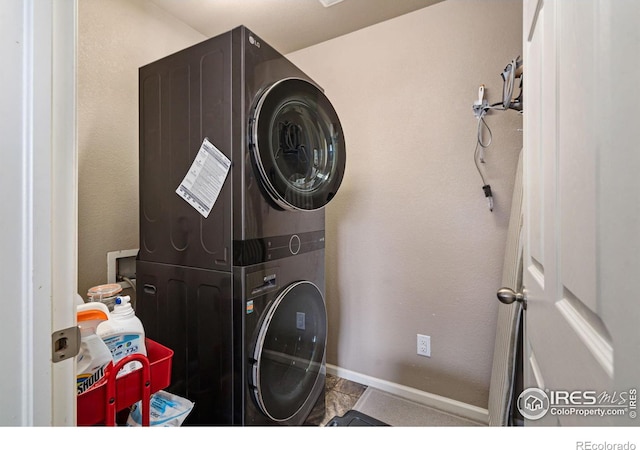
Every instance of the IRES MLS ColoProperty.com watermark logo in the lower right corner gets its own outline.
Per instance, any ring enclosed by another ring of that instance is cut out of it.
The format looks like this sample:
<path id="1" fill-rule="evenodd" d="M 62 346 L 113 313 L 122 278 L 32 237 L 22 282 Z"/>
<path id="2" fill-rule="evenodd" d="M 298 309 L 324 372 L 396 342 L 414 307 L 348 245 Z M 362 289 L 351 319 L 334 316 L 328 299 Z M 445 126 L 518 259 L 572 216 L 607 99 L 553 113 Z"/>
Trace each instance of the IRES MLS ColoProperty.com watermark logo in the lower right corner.
<path id="1" fill-rule="evenodd" d="M 637 417 L 637 390 L 596 392 L 592 390 L 525 389 L 518 397 L 522 416 L 538 420 L 547 414 L 554 416 L 628 416 Z"/>

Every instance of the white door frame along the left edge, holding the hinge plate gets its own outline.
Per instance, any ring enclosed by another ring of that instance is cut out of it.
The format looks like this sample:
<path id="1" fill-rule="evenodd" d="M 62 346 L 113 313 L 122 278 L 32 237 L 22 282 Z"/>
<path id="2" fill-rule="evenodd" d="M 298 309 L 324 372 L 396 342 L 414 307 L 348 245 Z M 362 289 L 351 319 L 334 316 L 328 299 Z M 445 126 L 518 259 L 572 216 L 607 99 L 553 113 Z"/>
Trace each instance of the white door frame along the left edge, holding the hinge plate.
<path id="1" fill-rule="evenodd" d="M 75 425 L 74 358 L 52 358 L 76 323 L 75 16 L 0 2 L 2 426 Z"/>

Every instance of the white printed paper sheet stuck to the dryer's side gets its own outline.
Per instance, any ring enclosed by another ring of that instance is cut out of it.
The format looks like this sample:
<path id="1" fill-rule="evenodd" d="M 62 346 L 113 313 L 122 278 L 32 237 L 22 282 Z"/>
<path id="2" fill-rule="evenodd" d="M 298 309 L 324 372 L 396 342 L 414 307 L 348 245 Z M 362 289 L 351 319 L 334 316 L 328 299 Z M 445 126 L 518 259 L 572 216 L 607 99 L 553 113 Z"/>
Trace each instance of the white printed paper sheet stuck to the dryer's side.
<path id="1" fill-rule="evenodd" d="M 229 158 L 204 138 L 196 159 L 176 189 L 176 194 L 207 218 L 222 190 L 230 167 Z"/>

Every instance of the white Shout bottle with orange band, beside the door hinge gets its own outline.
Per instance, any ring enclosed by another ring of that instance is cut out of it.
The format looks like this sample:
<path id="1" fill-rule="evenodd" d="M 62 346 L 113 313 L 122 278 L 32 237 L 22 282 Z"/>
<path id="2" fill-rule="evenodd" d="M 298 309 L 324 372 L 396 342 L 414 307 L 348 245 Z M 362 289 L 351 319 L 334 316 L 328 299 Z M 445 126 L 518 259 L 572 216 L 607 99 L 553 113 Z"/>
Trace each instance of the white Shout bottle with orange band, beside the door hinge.
<path id="1" fill-rule="evenodd" d="M 102 303 L 77 306 L 80 328 L 80 352 L 76 356 L 76 387 L 80 395 L 104 379 L 113 366 L 113 357 L 104 341 L 96 334 L 100 323 L 109 319 L 109 310 Z"/>

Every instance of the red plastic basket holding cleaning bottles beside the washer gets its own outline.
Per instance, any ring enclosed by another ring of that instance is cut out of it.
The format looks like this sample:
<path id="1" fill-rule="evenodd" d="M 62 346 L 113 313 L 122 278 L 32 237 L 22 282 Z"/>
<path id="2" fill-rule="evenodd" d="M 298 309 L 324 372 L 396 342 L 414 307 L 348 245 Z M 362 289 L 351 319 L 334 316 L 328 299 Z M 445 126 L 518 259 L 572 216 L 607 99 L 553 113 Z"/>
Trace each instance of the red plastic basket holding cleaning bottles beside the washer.
<path id="1" fill-rule="evenodd" d="M 146 400 L 143 402 L 142 412 L 143 417 L 146 416 L 148 419 L 147 395 L 169 386 L 173 350 L 148 338 L 145 339 L 145 346 L 146 358 L 144 355 L 131 355 L 127 357 L 130 358 L 127 361 L 127 358 L 119 361 L 111 373 L 112 380 L 107 380 L 106 383 L 101 383 L 77 397 L 78 426 L 113 425 L 115 412 L 126 409 L 140 400 Z M 116 379 L 115 374 L 130 360 L 141 361 L 143 367 Z"/>

